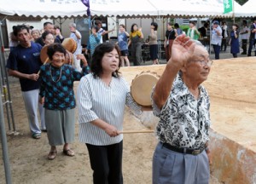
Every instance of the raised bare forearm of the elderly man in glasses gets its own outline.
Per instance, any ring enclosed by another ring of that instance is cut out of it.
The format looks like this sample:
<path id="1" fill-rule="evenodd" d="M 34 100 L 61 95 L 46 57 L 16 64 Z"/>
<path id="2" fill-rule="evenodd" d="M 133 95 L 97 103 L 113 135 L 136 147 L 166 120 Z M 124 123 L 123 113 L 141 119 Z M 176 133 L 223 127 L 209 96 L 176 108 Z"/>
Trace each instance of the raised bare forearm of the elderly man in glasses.
<path id="1" fill-rule="evenodd" d="M 172 89 L 172 83 L 180 70 L 180 66 L 172 63 L 172 59 L 168 61 L 166 69 L 155 85 L 153 100 L 154 103 L 161 109 L 167 101 Z"/>

